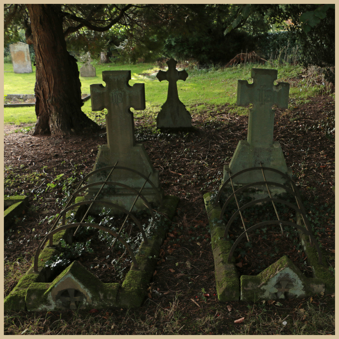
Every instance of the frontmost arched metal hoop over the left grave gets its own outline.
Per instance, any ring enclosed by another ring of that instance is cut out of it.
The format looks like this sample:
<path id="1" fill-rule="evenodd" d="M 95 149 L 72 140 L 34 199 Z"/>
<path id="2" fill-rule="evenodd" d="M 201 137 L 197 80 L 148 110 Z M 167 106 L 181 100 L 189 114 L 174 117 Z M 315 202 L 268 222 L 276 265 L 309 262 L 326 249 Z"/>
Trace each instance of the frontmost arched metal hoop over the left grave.
<path id="1" fill-rule="evenodd" d="M 44 243 L 47 238 L 53 238 L 53 235 L 55 233 L 58 233 L 58 232 L 60 232 L 62 230 L 66 230 L 67 228 L 79 227 L 79 226 L 99 228 L 99 230 L 105 231 L 105 232 L 113 235 L 114 237 L 116 237 L 126 247 L 129 255 L 132 258 L 132 261 L 133 261 L 133 264 L 134 264 L 134 268 L 139 268 L 138 263 L 137 263 L 137 259 L 135 258 L 135 255 L 134 255 L 134 253 L 132 251 L 131 246 L 129 246 L 127 244 L 127 242 L 122 237 L 120 237 L 120 235 L 118 235 L 117 233 L 113 232 L 112 230 L 110 230 L 107 227 L 100 226 L 100 225 L 97 225 L 97 224 L 79 223 L 78 222 L 78 223 L 74 223 L 74 224 L 67 224 L 67 225 L 60 226 L 60 227 L 56 228 L 54 231 L 49 232 L 44 237 L 44 239 L 41 240 L 40 243 Z M 37 252 L 35 253 L 35 256 L 34 256 L 34 271 L 35 272 L 38 272 L 38 260 L 39 260 L 40 251 L 41 251 L 41 246 L 39 245 L 38 249 L 37 249 Z"/>

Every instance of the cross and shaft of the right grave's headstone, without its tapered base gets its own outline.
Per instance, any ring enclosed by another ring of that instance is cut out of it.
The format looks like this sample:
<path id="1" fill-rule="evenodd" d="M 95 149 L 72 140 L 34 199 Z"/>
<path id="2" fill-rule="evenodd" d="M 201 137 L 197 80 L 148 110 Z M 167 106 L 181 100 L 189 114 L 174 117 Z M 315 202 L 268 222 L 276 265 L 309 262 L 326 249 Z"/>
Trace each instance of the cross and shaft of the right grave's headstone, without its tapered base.
<path id="1" fill-rule="evenodd" d="M 273 144 L 274 111 L 273 105 L 278 108 L 288 107 L 288 92 L 290 84 L 277 80 L 276 69 L 252 68 L 253 83 L 238 80 L 237 105 L 253 104 L 248 116 L 247 142 L 251 148 L 270 147 Z"/>

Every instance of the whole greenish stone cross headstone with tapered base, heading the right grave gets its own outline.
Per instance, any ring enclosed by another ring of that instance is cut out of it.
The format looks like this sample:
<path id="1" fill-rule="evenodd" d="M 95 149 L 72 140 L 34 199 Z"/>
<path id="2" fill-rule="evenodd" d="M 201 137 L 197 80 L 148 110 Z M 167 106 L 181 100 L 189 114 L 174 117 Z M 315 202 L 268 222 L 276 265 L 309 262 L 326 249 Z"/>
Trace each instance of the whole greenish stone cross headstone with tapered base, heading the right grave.
<path id="1" fill-rule="evenodd" d="M 243 169 L 260 166 L 278 169 L 289 173 L 280 143 L 273 141 L 274 111 L 273 105 L 278 108 L 287 108 L 290 84 L 279 82 L 276 69 L 252 68 L 253 83 L 238 80 L 237 105 L 247 106 L 253 104 L 248 116 L 247 140 L 240 140 L 229 165 L 224 166 L 224 181 L 231 175 Z M 283 183 L 281 175 L 266 171 L 267 181 Z M 241 174 L 234 179 L 237 185 L 245 185 L 262 181 L 261 171 L 251 171 Z"/>

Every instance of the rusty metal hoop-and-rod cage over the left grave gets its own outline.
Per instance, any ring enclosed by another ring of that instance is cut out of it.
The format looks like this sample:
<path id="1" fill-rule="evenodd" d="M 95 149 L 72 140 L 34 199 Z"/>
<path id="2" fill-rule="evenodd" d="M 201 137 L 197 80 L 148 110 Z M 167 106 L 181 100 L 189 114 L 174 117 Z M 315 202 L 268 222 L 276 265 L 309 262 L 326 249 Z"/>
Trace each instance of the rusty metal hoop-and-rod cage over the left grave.
<path id="1" fill-rule="evenodd" d="M 122 167 L 122 166 L 117 166 L 118 164 L 118 161 L 115 163 L 114 166 L 106 166 L 106 167 L 102 167 L 102 168 L 99 168 L 95 171 L 92 171 L 90 172 L 89 174 L 87 174 L 82 180 L 81 182 L 79 183 L 78 187 L 76 188 L 75 192 L 71 195 L 71 197 L 69 198 L 69 200 L 67 201 L 64 209 L 60 212 L 59 215 L 56 216 L 56 220 L 55 222 L 53 223 L 53 226 L 51 228 L 51 231 L 49 231 L 49 233 L 41 240 L 38 248 L 37 248 L 37 251 L 36 251 L 36 254 L 35 254 L 35 257 L 34 257 L 34 271 L 35 272 L 38 272 L 38 258 L 39 258 L 39 254 L 42 250 L 42 247 L 44 246 L 45 242 L 47 240 L 49 240 L 49 246 L 52 247 L 53 246 L 53 235 L 62 231 L 62 230 L 65 230 L 65 229 L 68 229 L 68 228 L 73 228 L 73 227 L 77 227 L 76 228 L 76 231 L 74 232 L 73 235 L 76 235 L 77 231 L 79 230 L 79 228 L 81 226 L 86 226 L 86 227 L 94 227 L 94 228 L 98 228 L 100 230 L 103 230 L 105 232 L 108 232 L 109 234 L 111 234 L 112 236 L 115 237 L 115 240 L 114 240 L 114 243 L 115 241 L 118 239 L 125 247 L 126 247 L 126 250 L 128 251 L 128 253 L 131 255 L 131 258 L 132 258 L 132 261 L 133 261 L 133 264 L 134 264 L 134 268 L 138 268 L 138 264 L 137 264 L 137 261 L 135 259 L 135 255 L 131 249 L 131 247 L 128 245 L 128 243 L 120 236 L 120 233 L 122 231 L 122 228 L 123 226 L 125 225 L 126 221 L 128 218 L 131 218 L 135 223 L 136 225 L 138 226 L 139 228 L 139 231 L 141 232 L 142 234 L 142 237 L 143 237 L 143 241 L 145 244 L 148 244 L 148 239 L 146 237 L 146 234 L 145 234 L 145 231 L 141 225 L 141 223 L 139 222 L 139 220 L 135 217 L 134 214 L 132 214 L 132 210 L 133 210 L 133 207 L 137 201 L 138 198 L 142 199 L 145 206 L 148 208 L 148 211 L 149 213 L 151 214 L 153 220 L 155 220 L 155 214 L 153 212 L 153 209 L 151 207 L 151 205 L 149 204 L 149 202 L 147 201 L 147 199 L 141 194 L 143 188 L 145 187 L 146 183 L 148 182 L 155 190 L 156 194 L 158 195 L 158 198 L 159 198 L 159 202 L 162 201 L 162 197 L 160 195 L 160 193 L 158 192 L 157 188 L 155 187 L 155 185 L 153 184 L 152 181 L 149 180 L 149 177 L 151 176 L 151 173 L 148 175 L 148 177 L 144 176 L 142 173 L 138 172 L 138 171 L 135 171 L 134 169 L 132 168 L 127 168 L 127 167 Z M 140 175 L 140 177 L 144 178 L 145 179 L 145 182 L 144 184 L 142 185 L 142 187 L 140 188 L 139 191 L 135 190 L 133 187 L 130 187 L 130 186 L 127 186 L 127 185 L 124 185 L 122 183 L 119 183 L 119 182 L 115 182 L 115 181 L 108 181 L 109 177 L 111 176 L 112 172 L 114 171 L 114 169 L 122 169 L 122 170 L 127 170 L 127 171 L 131 171 L 133 173 L 136 173 L 138 175 Z M 87 185 L 83 185 L 83 183 L 85 182 L 86 179 L 88 179 L 90 176 L 94 175 L 94 174 L 97 174 L 101 171 L 107 171 L 109 170 L 109 174 L 108 176 L 106 177 L 106 180 L 105 181 L 100 181 L 100 182 L 94 182 L 94 183 L 91 183 L 91 184 L 87 184 Z M 97 192 L 96 196 L 94 197 L 93 200 L 87 200 L 87 201 L 81 201 L 81 202 L 78 202 L 78 203 L 74 203 L 75 201 L 75 198 L 83 191 L 86 191 L 89 187 L 92 187 L 92 186 L 98 186 L 98 185 L 101 185 L 99 191 Z M 108 185 L 113 185 L 113 186 L 120 186 L 120 187 L 124 187 L 124 188 L 127 188 L 129 191 L 133 192 L 136 194 L 136 198 L 130 208 L 129 211 L 127 211 L 125 208 L 117 205 L 117 204 L 114 204 L 112 202 L 106 202 L 106 201 L 100 201 L 100 200 L 97 200 L 99 194 L 102 192 L 104 186 L 108 186 Z M 100 226 L 100 225 L 97 225 L 97 224 L 93 224 L 93 223 L 86 223 L 85 222 L 85 218 L 89 215 L 89 212 L 91 210 L 91 207 L 94 205 L 94 204 L 100 204 L 101 206 L 107 206 L 107 207 L 111 207 L 111 208 L 116 208 L 118 210 L 120 210 L 122 213 L 126 214 L 126 217 L 125 217 L 125 220 L 119 230 L 118 233 L 116 232 L 113 232 L 112 230 L 110 230 L 109 228 L 107 227 L 104 227 L 104 226 Z M 72 224 L 65 224 L 66 223 L 66 214 L 67 212 L 71 211 L 71 210 L 74 210 L 75 208 L 81 206 L 81 205 L 89 205 L 89 207 L 87 208 L 87 211 L 85 212 L 84 216 L 82 217 L 82 220 L 81 222 L 79 223 L 72 223 Z M 61 220 L 61 225 L 59 225 L 57 227 L 57 225 L 60 223 L 60 219 Z"/>

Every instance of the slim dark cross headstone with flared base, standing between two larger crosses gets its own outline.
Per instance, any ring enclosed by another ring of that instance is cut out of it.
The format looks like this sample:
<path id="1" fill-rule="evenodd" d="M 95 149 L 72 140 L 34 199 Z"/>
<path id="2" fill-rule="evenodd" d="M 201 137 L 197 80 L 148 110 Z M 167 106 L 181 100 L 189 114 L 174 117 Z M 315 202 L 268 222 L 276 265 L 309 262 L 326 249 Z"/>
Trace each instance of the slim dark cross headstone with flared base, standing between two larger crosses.
<path id="1" fill-rule="evenodd" d="M 186 106 L 179 100 L 177 81 L 185 81 L 188 74 L 185 70 L 176 69 L 177 61 L 169 59 L 167 62 L 168 70 L 159 71 L 157 78 L 159 81 L 168 81 L 168 92 L 165 103 L 157 116 L 157 128 L 160 129 L 181 129 L 192 127 L 192 117 L 187 111 Z"/>

